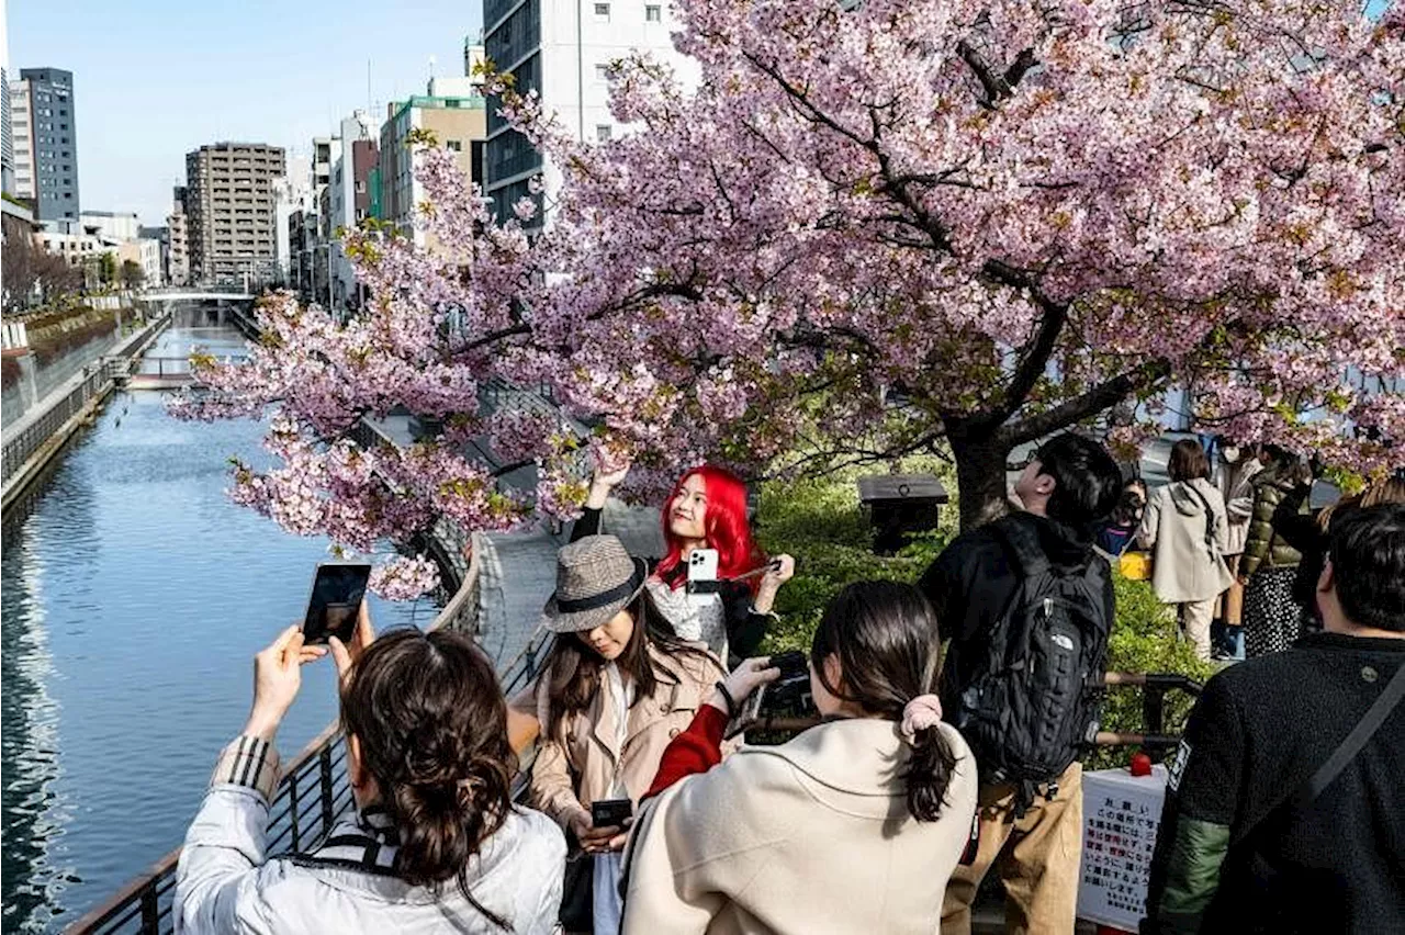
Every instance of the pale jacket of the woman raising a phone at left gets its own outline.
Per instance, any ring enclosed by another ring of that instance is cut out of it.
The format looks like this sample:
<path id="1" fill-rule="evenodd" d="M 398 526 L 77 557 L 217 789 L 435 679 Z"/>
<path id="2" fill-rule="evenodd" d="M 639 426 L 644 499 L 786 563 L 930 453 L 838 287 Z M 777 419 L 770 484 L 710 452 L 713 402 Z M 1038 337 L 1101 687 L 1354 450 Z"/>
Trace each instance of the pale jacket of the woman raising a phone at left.
<path id="1" fill-rule="evenodd" d="M 274 859 L 267 856 L 267 825 L 263 792 L 229 782 L 211 786 L 176 873 L 177 935 L 504 931 L 452 880 L 436 897 L 391 875 L 395 833 L 384 816 L 351 814 L 320 849 Z M 514 809 L 469 862 L 469 891 L 507 920 L 507 931 L 545 935 L 556 928 L 565 859 L 556 824 Z"/>

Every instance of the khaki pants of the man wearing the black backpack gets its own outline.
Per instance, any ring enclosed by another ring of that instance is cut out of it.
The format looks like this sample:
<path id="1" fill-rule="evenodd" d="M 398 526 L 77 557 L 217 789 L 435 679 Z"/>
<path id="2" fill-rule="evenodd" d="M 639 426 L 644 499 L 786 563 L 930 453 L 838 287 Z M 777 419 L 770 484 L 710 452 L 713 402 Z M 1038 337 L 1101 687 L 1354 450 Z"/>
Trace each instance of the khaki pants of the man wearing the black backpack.
<path id="1" fill-rule="evenodd" d="M 1037 796 L 1023 818 L 1013 806 L 1013 786 L 981 786 L 981 844 L 975 863 L 958 865 L 947 882 L 941 935 L 971 935 L 971 903 L 992 865 L 1005 884 L 1006 932 L 1072 935 L 1083 852 L 1082 765 L 1064 771 L 1052 802 Z"/>

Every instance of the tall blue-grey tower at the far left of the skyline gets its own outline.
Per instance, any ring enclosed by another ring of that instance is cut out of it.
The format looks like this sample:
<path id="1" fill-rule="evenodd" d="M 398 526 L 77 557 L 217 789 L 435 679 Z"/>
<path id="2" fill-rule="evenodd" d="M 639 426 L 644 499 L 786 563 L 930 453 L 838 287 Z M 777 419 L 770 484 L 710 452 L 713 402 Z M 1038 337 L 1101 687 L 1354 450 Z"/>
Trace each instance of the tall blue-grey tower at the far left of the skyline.
<path id="1" fill-rule="evenodd" d="M 15 194 L 34 216 L 73 229 L 79 223 L 79 133 L 73 73 L 21 69 L 10 83 Z"/>

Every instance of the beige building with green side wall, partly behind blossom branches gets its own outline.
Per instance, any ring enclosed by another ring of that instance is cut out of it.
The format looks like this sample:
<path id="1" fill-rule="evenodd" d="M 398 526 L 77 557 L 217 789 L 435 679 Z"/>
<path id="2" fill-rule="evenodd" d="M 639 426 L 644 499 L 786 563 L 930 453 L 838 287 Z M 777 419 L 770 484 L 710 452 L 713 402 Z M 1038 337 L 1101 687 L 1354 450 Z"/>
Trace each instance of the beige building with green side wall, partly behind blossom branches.
<path id="1" fill-rule="evenodd" d="M 416 211 L 426 201 L 424 187 L 414 178 L 414 131 L 430 131 L 440 146 L 455 153 L 459 168 L 473 184 L 483 184 L 483 138 L 488 107 L 478 86 L 466 79 L 431 79 L 427 94 L 391 104 L 381 126 L 379 219 L 393 223 L 417 244 L 424 232 L 416 225 Z"/>

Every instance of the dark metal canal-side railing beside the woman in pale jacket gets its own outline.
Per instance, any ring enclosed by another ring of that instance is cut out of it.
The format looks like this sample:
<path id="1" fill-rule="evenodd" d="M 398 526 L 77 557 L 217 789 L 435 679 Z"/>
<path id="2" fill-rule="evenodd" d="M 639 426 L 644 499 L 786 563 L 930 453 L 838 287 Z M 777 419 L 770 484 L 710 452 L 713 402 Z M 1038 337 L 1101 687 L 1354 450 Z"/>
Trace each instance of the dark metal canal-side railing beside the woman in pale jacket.
<path id="1" fill-rule="evenodd" d="M 429 629 L 473 633 L 479 618 L 479 563 L 476 549 L 468 574 Z M 538 653 L 524 651 L 500 670 L 504 685 L 523 685 L 531 677 L 525 668 Z M 509 689 L 513 691 L 513 689 Z M 270 804 L 268 849 L 287 854 L 306 849 L 325 835 L 351 807 L 346 768 L 346 738 L 333 722 L 301 754 L 284 767 L 278 790 Z M 166 935 L 173 932 L 176 896 L 176 848 L 105 903 L 69 925 L 67 935 Z"/>

